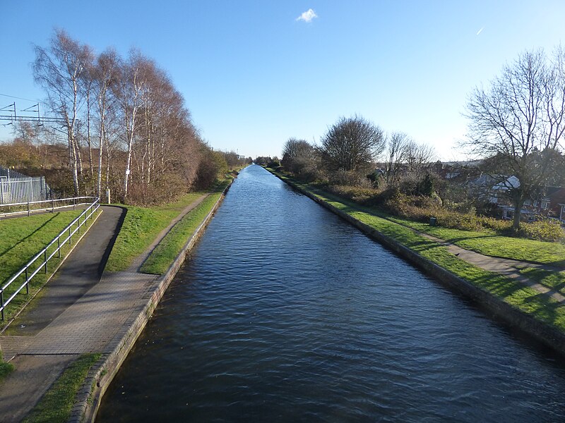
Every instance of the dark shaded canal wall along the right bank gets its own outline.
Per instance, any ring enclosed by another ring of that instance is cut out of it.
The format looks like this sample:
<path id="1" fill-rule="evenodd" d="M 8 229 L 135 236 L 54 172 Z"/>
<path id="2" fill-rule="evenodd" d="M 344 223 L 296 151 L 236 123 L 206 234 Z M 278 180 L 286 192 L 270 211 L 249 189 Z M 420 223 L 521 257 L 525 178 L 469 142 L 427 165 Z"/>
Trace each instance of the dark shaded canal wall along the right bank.
<path id="1" fill-rule="evenodd" d="M 273 173 L 273 175 L 278 177 L 276 173 Z M 535 319 L 534 317 L 530 316 L 530 314 L 523 312 L 521 309 L 513 307 L 508 302 L 504 302 L 504 300 L 501 300 L 501 298 L 498 298 L 491 293 L 473 285 L 469 281 L 466 281 L 465 279 L 452 274 L 450 271 L 444 269 L 443 267 L 430 262 L 428 259 L 422 257 L 417 252 L 412 251 L 410 250 L 410 248 L 398 243 L 398 241 L 393 240 L 392 238 L 388 238 L 386 235 L 383 235 L 383 233 L 376 231 L 376 229 L 371 228 L 371 226 L 367 225 L 366 223 L 358 221 L 349 214 L 336 207 L 333 207 L 331 204 L 328 204 L 327 202 L 321 200 L 319 197 L 316 197 L 316 195 L 312 194 L 311 192 L 304 190 L 295 183 L 292 183 L 291 180 L 283 178 L 280 178 L 280 180 L 283 180 L 283 182 L 292 186 L 292 188 L 295 188 L 295 190 L 302 192 L 302 194 L 306 195 L 311 200 L 314 200 L 322 207 L 330 210 L 334 214 L 337 214 L 338 216 L 340 216 L 340 218 L 352 224 L 360 231 L 368 235 L 370 238 L 381 243 L 381 245 L 384 245 L 389 250 L 396 252 L 396 254 L 400 257 L 403 257 L 403 259 L 406 259 L 408 262 L 414 264 L 419 269 L 422 269 L 430 276 L 433 276 L 436 281 L 439 281 L 442 285 L 465 295 L 465 297 L 477 302 L 477 304 L 484 307 L 484 309 L 492 313 L 498 319 L 501 319 L 507 324 L 520 329 L 524 333 L 527 333 L 529 336 L 537 339 L 537 341 L 540 341 L 541 343 L 544 343 L 550 348 L 556 350 L 557 353 L 565 355 L 565 333 L 554 329 L 552 326 L 549 326 L 549 324 L 546 324 L 543 321 Z"/>

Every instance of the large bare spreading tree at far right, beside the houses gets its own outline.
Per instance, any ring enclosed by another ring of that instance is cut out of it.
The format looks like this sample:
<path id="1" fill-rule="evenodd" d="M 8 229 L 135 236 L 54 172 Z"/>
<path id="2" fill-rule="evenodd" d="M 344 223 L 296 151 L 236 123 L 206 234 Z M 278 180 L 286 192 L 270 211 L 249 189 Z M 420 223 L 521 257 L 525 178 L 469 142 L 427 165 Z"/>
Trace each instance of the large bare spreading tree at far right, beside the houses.
<path id="1" fill-rule="evenodd" d="M 475 88 L 467 104 L 472 152 L 496 157 L 494 174 L 508 185 L 514 206 L 513 228 L 520 226 L 525 200 L 540 190 L 555 166 L 555 152 L 565 130 L 565 54 L 559 48 L 552 60 L 544 51 L 525 51 L 504 66 L 488 90 Z M 504 175 L 504 173 L 509 173 Z"/>

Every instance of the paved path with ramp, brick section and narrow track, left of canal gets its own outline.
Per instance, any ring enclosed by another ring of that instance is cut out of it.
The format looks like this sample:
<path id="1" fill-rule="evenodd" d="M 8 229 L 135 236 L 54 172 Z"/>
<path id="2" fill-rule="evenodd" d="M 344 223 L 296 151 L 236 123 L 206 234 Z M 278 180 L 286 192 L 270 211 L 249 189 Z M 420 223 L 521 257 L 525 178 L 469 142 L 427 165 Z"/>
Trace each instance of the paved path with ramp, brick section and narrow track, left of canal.
<path id="1" fill-rule="evenodd" d="M 0 384 L 0 422 L 18 422 L 40 400 L 66 366 L 82 353 L 109 353 L 145 305 L 157 276 L 138 268 L 174 223 L 196 207 L 203 195 L 163 230 L 127 271 L 104 273 L 121 209 L 104 207 L 88 235 L 48 283 L 37 307 L 0 337 L 4 358 L 16 371 Z"/>

